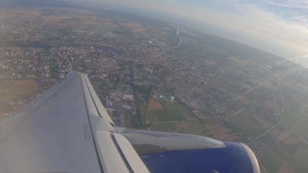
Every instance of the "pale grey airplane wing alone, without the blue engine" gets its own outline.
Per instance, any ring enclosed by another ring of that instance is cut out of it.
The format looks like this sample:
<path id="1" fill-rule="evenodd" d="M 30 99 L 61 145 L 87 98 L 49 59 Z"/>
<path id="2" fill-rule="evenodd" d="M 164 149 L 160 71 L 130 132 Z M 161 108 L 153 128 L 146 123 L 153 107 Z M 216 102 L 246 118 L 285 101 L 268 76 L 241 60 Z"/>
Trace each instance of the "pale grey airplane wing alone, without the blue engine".
<path id="1" fill-rule="evenodd" d="M 0 172 L 148 172 L 84 74 L 0 121 Z"/>

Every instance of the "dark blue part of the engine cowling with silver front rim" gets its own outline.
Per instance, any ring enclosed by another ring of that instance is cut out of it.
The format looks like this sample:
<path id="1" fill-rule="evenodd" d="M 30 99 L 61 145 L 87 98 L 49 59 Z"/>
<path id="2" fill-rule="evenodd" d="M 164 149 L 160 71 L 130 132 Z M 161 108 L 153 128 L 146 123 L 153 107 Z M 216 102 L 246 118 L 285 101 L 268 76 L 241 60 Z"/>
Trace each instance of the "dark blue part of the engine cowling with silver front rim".
<path id="1" fill-rule="evenodd" d="M 242 143 L 225 148 L 173 150 L 140 154 L 150 172 L 260 172 L 253 152 Z"/>

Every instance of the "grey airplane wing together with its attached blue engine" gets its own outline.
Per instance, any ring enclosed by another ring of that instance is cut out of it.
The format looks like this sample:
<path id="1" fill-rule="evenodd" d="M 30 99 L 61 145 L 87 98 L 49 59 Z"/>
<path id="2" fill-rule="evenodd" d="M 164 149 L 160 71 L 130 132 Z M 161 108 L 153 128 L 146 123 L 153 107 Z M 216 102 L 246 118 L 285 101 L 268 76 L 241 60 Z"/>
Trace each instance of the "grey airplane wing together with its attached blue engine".
<path id="1" fill-rule="evenodd" d="M 242 143 L 114 126 L 84 74 L 0 121 L 0 172 L 149 171 L 260 172 Z"/>

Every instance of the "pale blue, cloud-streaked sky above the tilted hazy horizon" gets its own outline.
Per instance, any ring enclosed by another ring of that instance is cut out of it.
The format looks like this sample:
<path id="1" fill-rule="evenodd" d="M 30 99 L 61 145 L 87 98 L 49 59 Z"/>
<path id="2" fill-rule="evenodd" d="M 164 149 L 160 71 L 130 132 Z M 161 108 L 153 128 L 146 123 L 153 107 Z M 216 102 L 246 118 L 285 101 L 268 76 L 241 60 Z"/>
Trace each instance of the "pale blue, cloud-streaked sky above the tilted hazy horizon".
<path id="1" fill-rule="evenodd" d="M 204 30 L 211 28 L 209 31 L 214 34 L 308 65 L 308 1 L 306 0 L 100 0 L 100 2 L 142 9 L 161 16 L 172 15 L 195 23 L 199 28 L 204 27 Z"/>

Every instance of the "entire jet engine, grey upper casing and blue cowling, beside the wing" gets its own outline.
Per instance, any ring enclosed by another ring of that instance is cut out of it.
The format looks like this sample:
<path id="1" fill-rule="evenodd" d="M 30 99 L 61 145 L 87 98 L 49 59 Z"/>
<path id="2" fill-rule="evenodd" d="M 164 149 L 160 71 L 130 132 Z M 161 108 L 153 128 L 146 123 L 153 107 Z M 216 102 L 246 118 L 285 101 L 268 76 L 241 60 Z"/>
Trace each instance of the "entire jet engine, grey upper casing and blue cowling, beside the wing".
<path id="1" fill-rule="evenodd" d="M 133 145 L 150 172 L 260 172 L 251 149 L 239 142 L 114 127 Z"/>

